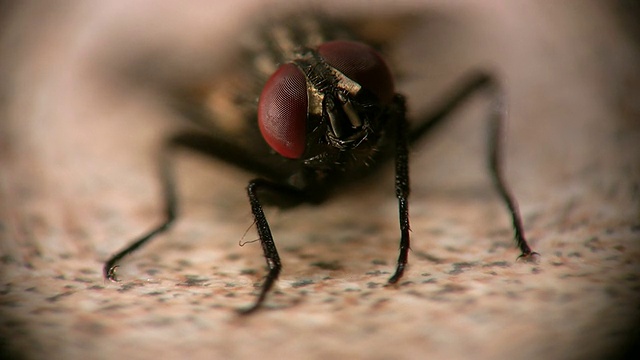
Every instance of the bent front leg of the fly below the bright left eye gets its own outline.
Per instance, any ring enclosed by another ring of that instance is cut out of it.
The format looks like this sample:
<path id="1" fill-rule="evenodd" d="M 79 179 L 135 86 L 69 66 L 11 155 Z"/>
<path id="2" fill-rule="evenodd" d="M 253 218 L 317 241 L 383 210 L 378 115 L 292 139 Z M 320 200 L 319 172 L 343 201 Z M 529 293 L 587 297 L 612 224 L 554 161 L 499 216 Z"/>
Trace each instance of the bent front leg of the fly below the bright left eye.
<path id="1" fill-rule="evenodd" d="M 249 314 L 260 308 L 282 270 L 282 263 L 280 262 L 280 256 L 278 255 L 278 249 L 273 241 L 269 223 L 267 222 L 267 218 L 262 210 L 262 204 L 258 198 L 258 191 L 260 190 L 272 191 L 291 198 L 297 198 L 300 201 L 303 199 L 303 191 L 289 185 L 278 184 L 264 179 L 255 179 L 249 182 L 249 186 L 247 186 L 249 203 L 251 204 L 251 212 L 253 213 L 256 229 L 260 238 L 260 244 L 262 245 L 262 251 L 264 252 L 269 272 L 262 284 L 258 299 L 252 306 L 239 310 L 238 312 L 241 314 Z"/>

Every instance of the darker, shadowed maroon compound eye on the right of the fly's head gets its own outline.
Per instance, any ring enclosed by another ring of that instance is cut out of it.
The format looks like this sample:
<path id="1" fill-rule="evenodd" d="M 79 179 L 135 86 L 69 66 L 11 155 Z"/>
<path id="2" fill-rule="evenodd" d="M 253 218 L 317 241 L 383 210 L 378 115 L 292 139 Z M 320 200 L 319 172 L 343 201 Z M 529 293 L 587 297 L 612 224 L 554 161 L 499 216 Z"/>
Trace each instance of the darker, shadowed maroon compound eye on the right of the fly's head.
<path id="1" fill-rule="evenodd" d="M 369 45 L 337 40 L 318 47 L 324 60 L 351 80 L 362 85 L 383 103 L 394 95 L 393 78 L 382 56 Z"/>

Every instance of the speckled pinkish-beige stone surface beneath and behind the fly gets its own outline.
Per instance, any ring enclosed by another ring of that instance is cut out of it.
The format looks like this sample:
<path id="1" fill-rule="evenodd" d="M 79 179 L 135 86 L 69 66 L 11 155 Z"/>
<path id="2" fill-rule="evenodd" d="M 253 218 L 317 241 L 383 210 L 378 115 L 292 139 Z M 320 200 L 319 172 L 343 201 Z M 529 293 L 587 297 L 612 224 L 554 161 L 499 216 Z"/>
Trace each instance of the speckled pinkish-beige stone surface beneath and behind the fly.
<path id="1" fill-rule="evenodd" d="M 625 354 L 640 319 L 640 52 L 624 3 L 325 4 L 424 13 L 388 52 L 413 118 L 467 71 L 495 69 L 507 177 L 541 257 L 516 261 L 483 167 L 479 96 L 412 150 L 413 243 L 397 286 L 388 166 L 322 206 L 267 209 L 284 270 L 249 317 L 234 309 L 265 273 L 260 246 L 238 245 L 255 238 L 252 175 L 220 161 L 178 154 L 175 228 L 125 261 L 120 283 L 101 266 L 160 220 L 154 156 L 176 116 L 158 89 L 215 78 L 264 4 L 3 5 L 0 357 Z"/>

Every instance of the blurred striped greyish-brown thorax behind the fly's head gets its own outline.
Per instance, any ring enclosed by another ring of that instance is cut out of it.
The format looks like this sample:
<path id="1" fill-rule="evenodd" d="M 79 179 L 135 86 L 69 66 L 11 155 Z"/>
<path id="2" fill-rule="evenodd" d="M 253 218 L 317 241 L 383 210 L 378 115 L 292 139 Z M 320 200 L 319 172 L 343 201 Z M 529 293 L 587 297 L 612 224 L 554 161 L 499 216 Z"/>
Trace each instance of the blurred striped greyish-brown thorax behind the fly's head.
<path id="1" fill-rule="evenodd" d="M 255 126 L 258 97 L 278 67 L 336 37 L 353 38 L 346 27 L 318 17 L 267 21 L 240 34 L 229 65 L 215 79 L 197 85 L 190 96 L 202 104 L 216 128 L 242 134 L 247 126 Z"/>

